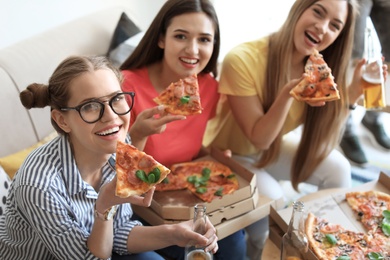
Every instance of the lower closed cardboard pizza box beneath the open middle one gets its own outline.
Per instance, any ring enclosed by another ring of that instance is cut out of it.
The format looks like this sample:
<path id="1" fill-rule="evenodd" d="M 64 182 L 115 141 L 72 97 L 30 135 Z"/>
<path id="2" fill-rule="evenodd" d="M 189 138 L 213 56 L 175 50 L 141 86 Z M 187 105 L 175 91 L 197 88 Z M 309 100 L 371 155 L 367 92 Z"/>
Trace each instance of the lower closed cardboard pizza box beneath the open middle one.
<path id="1" fill-rule="evenodd" d="M 253 196 L 257 196 L 257 199 L 245 199 L 227 207 L 207 213 L 211 223 L 213 223 L 217 230 L 217 236 L 219 239 L 223 239 L 234 232 L 249 226 L 257 220 L 262 219 L 263 217 L 269 215 L 271 206 L 276 207 L 279 203 L 283 203 L 282 199 L 275 201 L 264 195 L 258 195 L 257 192 L 255 192 Z M 249 211 L 243 210 L 243 208 L 249 207 L 252 200 L 257 202 L 255 208 Z M 146 208 L 136 205 L 133 205 L 132 207 L 138 216 L 146 220 L 151 225 L 174 224 L 188 220 L 163 219 L 150 207 Z M 242 213 L 242 211 L 246 212 Z"/>

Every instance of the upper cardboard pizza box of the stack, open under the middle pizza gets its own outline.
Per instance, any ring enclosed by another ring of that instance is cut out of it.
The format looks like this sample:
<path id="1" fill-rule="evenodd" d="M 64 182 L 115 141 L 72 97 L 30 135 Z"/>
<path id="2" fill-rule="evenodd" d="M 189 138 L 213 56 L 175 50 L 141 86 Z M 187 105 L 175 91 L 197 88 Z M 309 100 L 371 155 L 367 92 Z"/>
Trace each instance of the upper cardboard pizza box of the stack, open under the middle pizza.
<path id="1" fill-rule="evenodd" d="M 217 149 L 212 149 L 210 154 L 199 158 L 198 160 L 215 160 L 228 166 L 233 173 L 236 174 L 239 182 L 239 189 L 234 193 L 224 195 L 219 199 L 214 199 L 210 203 L 205 203 L 207 212 L 214 212 L 240 201 L 248 202 L 248 200 L 251 201 L 252 206 L 240 208 L 240 213 L 248 212 L 256 207 L 258 196 L 255 174 L 233 159 L 224 156 L 223 153 Z M 150 208 L 163 219 L 183 220 L 193 218 L 194 206 L 198 203 L 204 202 L 193 195 L 189 190 L 156 191 Z"/>

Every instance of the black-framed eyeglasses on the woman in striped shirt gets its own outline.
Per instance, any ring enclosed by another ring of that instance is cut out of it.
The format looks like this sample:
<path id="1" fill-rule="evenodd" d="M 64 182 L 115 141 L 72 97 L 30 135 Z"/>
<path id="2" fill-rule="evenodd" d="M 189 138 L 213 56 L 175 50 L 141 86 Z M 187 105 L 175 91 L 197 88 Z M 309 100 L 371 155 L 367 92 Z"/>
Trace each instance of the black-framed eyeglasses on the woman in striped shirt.
<path id="1" fill-rule="evenodd" d="M 84 122 L 93 124 L 102 118 L 106 106 L 104 103 L 107 102 L 115 114 L 125 115 L 129 113 L 133 108 L 134 96 L 134 92 L 118 93 L 106 101 L 94 99 L 75 107 L 63 107 L 61 111 L 76 110 Z"/>

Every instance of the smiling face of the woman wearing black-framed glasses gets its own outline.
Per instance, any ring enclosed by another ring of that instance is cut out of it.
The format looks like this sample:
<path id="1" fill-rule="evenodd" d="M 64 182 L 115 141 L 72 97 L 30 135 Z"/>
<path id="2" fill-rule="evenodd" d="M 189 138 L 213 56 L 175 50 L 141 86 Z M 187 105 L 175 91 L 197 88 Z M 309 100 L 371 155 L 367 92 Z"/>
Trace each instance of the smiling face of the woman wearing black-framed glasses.
<path id="1" fill-rule="evenodd" d="M 91 99 L 108 101 L 121 87 L 115 74 L 100 69 L 81 74 L 69 86 L 68 107 L 75 107 Z M 129 127 L 130 113 L 115 114 L 105 102 L 104 114 L 100 120 L 89 124 L 84 122 L 76 110 L 61 112 L 60 127 L 69 134 L 74 153 L 110 155 L 115 152 L 117 140 L 124 141 Z"/>

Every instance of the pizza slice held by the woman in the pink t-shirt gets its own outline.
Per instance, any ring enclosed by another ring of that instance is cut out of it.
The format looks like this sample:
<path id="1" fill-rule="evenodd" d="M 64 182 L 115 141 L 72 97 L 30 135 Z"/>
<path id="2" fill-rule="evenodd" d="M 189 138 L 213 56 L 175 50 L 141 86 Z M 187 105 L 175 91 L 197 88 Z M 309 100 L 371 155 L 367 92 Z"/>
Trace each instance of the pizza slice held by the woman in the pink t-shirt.
<path id="1" fill-rule="evenodd" d="M 165 106 L 165 111 L 174 115 L 197 115 L 202 113 L 197 75 L 171 83 L 163 92 L 153 99 Z"/>

